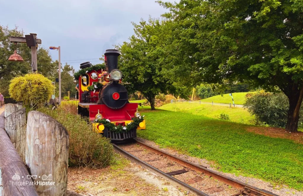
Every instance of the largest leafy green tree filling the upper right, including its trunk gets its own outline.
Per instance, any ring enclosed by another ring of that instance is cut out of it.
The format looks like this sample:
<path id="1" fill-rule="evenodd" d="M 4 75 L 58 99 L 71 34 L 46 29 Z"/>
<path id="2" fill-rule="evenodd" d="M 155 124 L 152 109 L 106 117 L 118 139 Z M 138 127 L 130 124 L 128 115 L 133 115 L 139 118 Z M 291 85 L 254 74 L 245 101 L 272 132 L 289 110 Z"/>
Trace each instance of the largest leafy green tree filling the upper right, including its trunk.
<path id="1" fill-rule="evenodd" d="M 159 2 L 171 30 L 164 70 L 170 80 L 252 80 L 289 100 L 285 129 L 297 131 L 303 99 L 301 0 Z M 183 75 L 177 75 L 186 69 Z"/>

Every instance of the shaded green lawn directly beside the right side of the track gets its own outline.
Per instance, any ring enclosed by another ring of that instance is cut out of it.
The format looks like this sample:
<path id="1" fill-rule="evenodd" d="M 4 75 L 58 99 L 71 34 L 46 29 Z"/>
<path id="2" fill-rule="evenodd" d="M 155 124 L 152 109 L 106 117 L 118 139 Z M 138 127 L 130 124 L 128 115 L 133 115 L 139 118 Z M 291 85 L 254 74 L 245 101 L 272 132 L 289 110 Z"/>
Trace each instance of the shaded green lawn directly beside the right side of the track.
<path id="1" fill-rule="evenodd" d="M 140 107 L 139 107 L 140 108 Z M 213 162 L 223 172 L 303 190 L 303 145 L 247 132 L 249 125 L 183 112 L 142 110 L 138 136 Z"/>

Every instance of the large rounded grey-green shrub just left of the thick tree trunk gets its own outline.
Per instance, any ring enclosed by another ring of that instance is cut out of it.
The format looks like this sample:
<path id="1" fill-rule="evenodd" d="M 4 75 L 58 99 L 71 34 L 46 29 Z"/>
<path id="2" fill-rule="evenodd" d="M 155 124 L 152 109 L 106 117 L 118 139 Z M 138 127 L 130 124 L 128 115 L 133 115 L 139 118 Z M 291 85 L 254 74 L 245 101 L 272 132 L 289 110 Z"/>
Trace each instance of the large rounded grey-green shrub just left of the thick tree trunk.
<path id="1" fill-rule="evenodd" d="M 264 90 L 254 94 L 248 93 L 244 107 L 248 109 L 249 113 L 255 115 L 259 125 L 286 126 L 289 102 L 284 93 L 268 93 Z M 301 115 L 300 125 L 302 125 Z"/>

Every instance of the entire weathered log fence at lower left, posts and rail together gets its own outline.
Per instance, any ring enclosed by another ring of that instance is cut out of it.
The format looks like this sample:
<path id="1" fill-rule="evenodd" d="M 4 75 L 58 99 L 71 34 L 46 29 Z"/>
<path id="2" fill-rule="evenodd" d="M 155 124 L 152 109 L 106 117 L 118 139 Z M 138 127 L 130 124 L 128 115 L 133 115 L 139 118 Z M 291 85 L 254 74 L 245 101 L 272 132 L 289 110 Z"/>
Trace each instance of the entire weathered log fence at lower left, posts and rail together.
<path id="1" fill-rule="evenodd" d="M 0 196 L 76 195 L 67 191 L 68 132 L 50 116 L 6 104 L 0 116 Z M 2 188 L 2 190 L 1 190 Z"/>

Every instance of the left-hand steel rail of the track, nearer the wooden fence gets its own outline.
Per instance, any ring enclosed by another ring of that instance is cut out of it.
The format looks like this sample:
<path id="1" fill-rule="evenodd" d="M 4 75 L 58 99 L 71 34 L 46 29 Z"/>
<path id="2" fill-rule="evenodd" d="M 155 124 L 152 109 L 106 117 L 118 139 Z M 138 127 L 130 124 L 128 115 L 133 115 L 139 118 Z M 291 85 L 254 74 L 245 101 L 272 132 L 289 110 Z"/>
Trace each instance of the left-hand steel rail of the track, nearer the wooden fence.
<path id="1" fill-rule="evenodd" d="M 164 178 L 164 179 L 170 181 L 171 183 L 173 183 L 173 184 L 175 184 L 175 185 L 177 185 L 177 186 L 180 186 L 180 187 L 184 188 L 185 190 L 189 191 L 190 193 L 193 193 L 193 194 L 195 194 L 195 195 L 209 196 L 208 194 L 205 194 L 205 193 L 203 193 L 202 191 L 199 191 L 199 190 L 197 190 L 197 189 L 191 187 L 190 185 L 185 184 L 184 182 L 182 182 L 182 181 L 180 181 L 180 180 L 178 180 L 178 179 L 176 179 L 176 178 L 174 178 L 174 177 L 172 177 L 172 176 L 170 176 L 170 175 L 168 175 L 168 174 L 166 174 L 166 173 L 160 171 L 159 169 L 157 169 L 157 168 L 155 168 L 155 167 L 149 165 L 148 163 L 146 163 L 146 162 L 144 162 L 144 161 L 138 159 L 138 158 L 135 157 L 134 155 L 132 155 L 132 154 L 126 152 L 125 150 L 123 150 L 122 148 L 120 148 L 118 145 L 113 144 L 113 146 L 114 146 L 115 150 L 116 150 L 118 153 L 120 153 L 120 154 L 126 156 L 127 158 L 129 158 L 129 159 L 131 159 L 132 161 L 138 163 L 138 164 L 141 165 L 142 167 L 147 168 L 149 171 L 154 172 L 154 173 L 157 174 L 158 176 L 160 176 L 160 177 L 162 177 L 162 178 Z"/>

